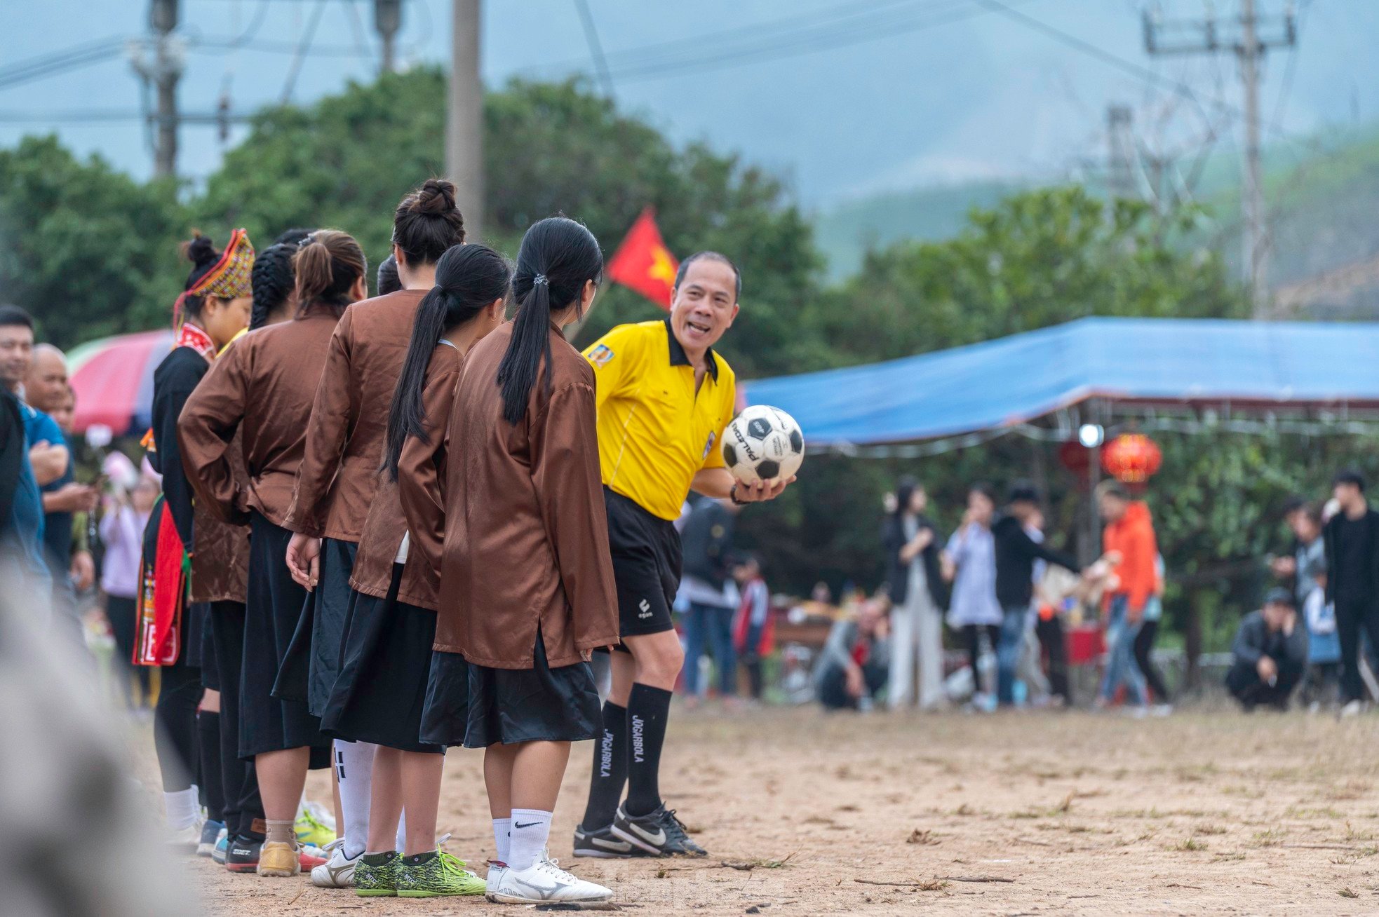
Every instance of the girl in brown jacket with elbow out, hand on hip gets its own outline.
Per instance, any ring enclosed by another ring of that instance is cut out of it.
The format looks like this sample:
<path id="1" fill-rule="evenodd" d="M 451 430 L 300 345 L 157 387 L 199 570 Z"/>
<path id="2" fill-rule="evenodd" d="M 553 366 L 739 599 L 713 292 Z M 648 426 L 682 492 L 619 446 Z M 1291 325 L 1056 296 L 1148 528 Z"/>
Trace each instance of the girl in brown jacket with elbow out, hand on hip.
<path id="1" fill-rule="evenodd" d="M 194 472 L 197 494 L 217 503 L 223 517 L 247 516 L 250 523 L 240 754 L 254 757 L 263 797 L 268 830 L 259 876 L 299 871 L 292 822 L 313 747 L 319 749 L 314 763 L 328 763 L 330 742 L 306 705 L 272 696 L 306 600 L 306 590 L 287 570 L 291 532 L 283 521 L 335 323 L 365 288 L 364 252 L 342 232 L 313 233 L 294 266 L 295 320 L 254 331 L 230 347 L 188 400 L 181 419 L 183 461 Z M 228 454 L 237 430 L 247 487 L 239 483 Z"/>

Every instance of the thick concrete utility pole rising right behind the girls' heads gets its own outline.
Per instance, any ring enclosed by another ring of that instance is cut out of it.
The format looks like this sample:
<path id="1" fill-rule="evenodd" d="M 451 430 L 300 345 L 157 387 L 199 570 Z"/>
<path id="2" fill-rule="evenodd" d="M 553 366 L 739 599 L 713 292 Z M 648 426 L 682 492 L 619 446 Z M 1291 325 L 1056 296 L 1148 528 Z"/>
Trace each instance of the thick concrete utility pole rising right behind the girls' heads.
<path id="1" fill-rule="evenodd" d="M 484 234 L 484 85 L 479 80 L 480 0 L 451 0 L 450 117 L 445 171 L 455 182 L 469 239 Z"/>

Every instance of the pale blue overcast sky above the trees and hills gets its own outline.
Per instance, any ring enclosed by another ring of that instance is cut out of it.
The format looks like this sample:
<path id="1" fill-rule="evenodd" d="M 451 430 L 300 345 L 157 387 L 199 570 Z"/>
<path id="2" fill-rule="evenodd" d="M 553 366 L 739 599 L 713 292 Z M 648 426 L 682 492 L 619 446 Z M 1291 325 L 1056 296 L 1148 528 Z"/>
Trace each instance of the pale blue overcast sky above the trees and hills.
<path id="1" fill-rule="evenodd" d="M 809 205 L 932 182 L 1058 172 L 1105 154 L 1111 102 L 1135 109 L 1153 146 L 1190 148 L 1212 130 L 1223 148 L 1234 142 L 1241 103 L 1234 58 L 1149 57 L 1140 0 L 1003 3 L 1123 66 L 1189 84 L 1211 117 L 1143 74 L 1059 43 L 983 0 L 587 0 L 622 106 L 677 141 L 706 139 L 772 168 Z M 1160 6 L 1165 17 L 1186 18 L 1207 4 Z M 1223 18 L 1238 8 L 1237 0 L 1214 6 Z M 1258 6 L 1274 15 L 1284 0 Z M 404 62 L 448 58 L 448 0 L 407 0 Z M 146 0 L 43 0 L 25 10 L 6 23 L 0 84 L 8 68 L 32 58 L 146 33 Z M 1379 1 L 1302 0 L 1299 11 L 1298 50 L 1266 62 L 1269 137 L 1379 120 Z M 312 101 L 349 79 L 370 79 L 378 68 L 372 15 L 371 0 L 182 0 L 190 44 L 182 109 L 212 112 L 222 87 L 239 112 L 283 98 L 292 50 L 317 17 L 292 98 Z M 212 47 L 254 23 L 245 47 Z M 514 73 L 592 70 L 576 0 L 490 0 L 483 32 L 490 85 Z M 46 120 L 132 114 L 139 95 L 124 54 L 4 85 L 0 145 L 55 130 L 79 152 L 99 152 L 146 177 L 152 156 L 138 120 Z M 37 120 L 17 120 L 30 116 Z M 243 132 L 236 128 L 229 142 Z M 183 128 L 181 172 L 203 178 L 223 149 L 214 127 Z"/>

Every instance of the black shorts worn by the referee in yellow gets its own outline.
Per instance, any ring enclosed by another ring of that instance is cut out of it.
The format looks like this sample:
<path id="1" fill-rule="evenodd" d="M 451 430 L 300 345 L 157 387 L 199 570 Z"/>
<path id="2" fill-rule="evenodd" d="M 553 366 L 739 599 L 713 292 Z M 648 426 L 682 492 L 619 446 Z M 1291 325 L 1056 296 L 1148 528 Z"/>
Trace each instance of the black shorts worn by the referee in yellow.
<path id="1" fill-rule="evenodd" d="M 604 488 L 608 547 L 618 585 L 618 621 L 623 637 L 674 630 L 670 607 L 680 589 L 680 532 L 636 501 Z M 626 652 L 626 644 L 619 644 Z"/>

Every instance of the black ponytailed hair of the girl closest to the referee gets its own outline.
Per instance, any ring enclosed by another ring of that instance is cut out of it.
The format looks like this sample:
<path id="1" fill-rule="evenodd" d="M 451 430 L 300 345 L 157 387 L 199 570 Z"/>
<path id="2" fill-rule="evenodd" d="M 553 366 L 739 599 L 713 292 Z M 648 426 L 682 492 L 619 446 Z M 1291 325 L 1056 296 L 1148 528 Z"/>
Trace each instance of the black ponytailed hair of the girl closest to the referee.
<path id="1" fill-rule="evenodd" d="M 513 276 L 513 296 L 519 303 L 513 336 L 498 364 L 498 385 L 503 392 L 503 419 L 519 423 L 527 414 L 527 400 L 542 360 L 546 361 L 546 392 L 550 392 L 550 314 L 571 305 L 582 313 L 585 284 L 598 283 L 603 252 L 598 240 L 583 223 L 567 216 L 547 216 L 532 223 L 523 236 Z"/>

